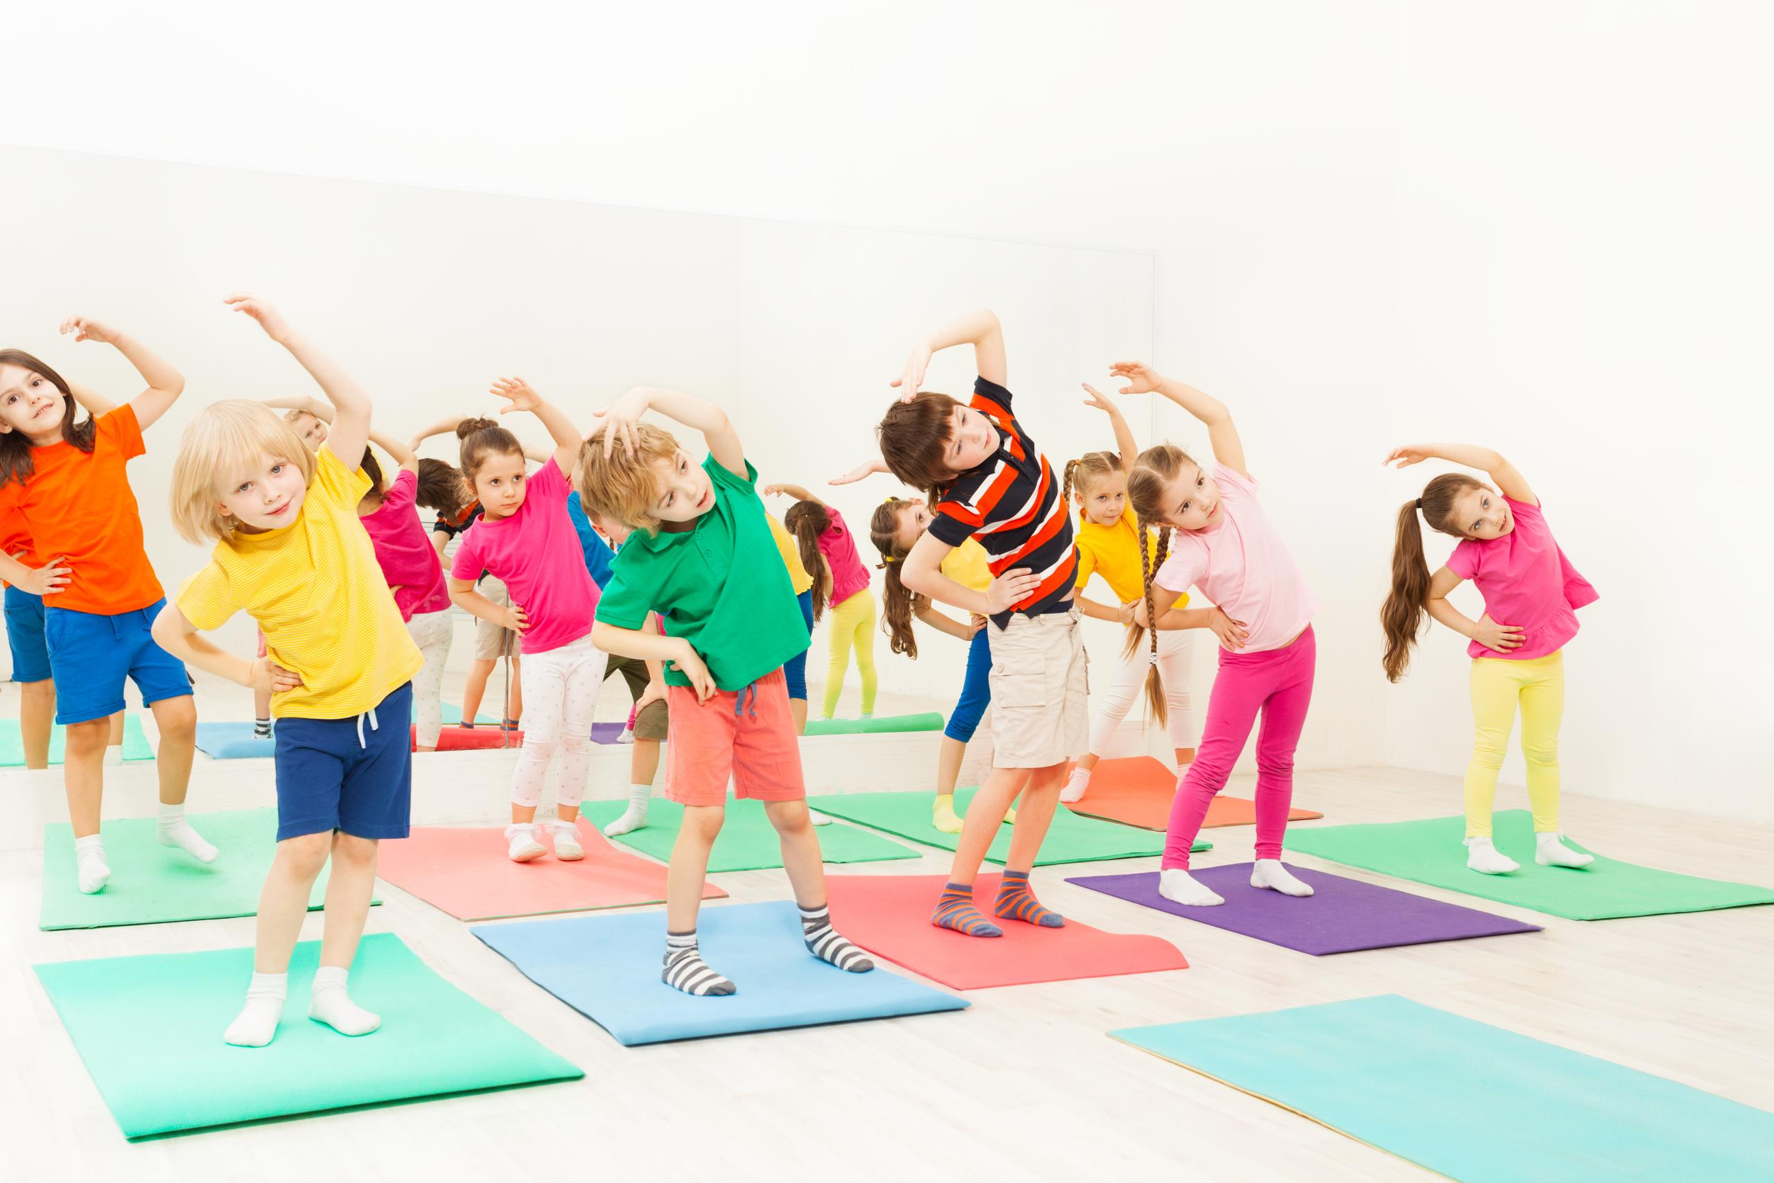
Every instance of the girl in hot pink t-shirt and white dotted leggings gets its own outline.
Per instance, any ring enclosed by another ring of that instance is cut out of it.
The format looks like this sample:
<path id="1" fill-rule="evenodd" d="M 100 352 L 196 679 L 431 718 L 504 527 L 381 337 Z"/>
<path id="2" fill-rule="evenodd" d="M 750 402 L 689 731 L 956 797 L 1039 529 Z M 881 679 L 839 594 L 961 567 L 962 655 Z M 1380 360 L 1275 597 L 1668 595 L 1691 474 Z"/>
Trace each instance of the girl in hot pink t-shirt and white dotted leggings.
<path id="1" fill-rule="evenodd" d="M 481 500 L 481 520 L 468 527 L 449 571 L 449 596 L 474 615 L 514 630 L 523 646 L 523 748 L 511 773 L 513 862 L 546 855 L 536 839 L 536 807 L 555 747 L 561 780 L 550 823 L 555 858 L 584 858 L 578 803 L 591 768 L 591 717 L 598 708 L 607 654 L 591 644 L 598 585 L 585 569 L 578 530 L 568 514 L 573 495 L 566 472 L 578 458 L 580 435 L 571 420 L 545 403 L 522 378 L 500 378 L 493 394 L 506 399 L 500 415 L 530 411 L 553 436 L 555 452 L 525 474 L 523 445 L 491 420 L 465 424 L 461 475 Z M 511 598 L 500 607 L 475 591 L 488 571 Z"/>

